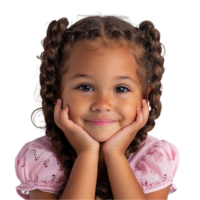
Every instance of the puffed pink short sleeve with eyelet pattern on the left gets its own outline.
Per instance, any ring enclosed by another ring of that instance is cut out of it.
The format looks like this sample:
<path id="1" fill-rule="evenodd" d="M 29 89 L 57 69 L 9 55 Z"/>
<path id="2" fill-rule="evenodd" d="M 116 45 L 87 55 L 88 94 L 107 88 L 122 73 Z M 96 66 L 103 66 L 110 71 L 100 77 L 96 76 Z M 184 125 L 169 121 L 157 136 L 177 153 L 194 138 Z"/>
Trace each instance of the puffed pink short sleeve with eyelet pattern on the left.
<path id="1" fill-rule="evenodd" d="M 35 189 L 57 194 L 62 184 L 67 182 L 64 170 L 45 137 L 24 143 L 14 158 L 15 195 L 20 200 L 30 200 L 29 191 Z"/>

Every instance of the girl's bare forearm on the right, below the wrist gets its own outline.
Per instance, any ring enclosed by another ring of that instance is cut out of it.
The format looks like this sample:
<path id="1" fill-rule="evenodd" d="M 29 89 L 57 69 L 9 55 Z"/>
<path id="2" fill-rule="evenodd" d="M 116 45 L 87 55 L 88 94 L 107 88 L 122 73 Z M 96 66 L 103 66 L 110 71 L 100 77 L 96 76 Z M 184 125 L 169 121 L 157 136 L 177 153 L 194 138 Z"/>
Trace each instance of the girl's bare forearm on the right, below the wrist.
<path id="1" fill-rule="evenodd" d="M 148 200 L 125 155 L 105 155 L 114 200 Z"/>

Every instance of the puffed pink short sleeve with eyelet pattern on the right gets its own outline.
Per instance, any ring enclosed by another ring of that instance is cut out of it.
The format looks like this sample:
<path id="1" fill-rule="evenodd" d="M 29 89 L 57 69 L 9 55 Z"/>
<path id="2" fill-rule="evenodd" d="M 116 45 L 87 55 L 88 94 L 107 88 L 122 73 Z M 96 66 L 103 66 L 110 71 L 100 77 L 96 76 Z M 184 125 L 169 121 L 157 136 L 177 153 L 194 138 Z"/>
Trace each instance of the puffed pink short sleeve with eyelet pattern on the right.
<path id="1" fill-rule="evenodd" d="M 133 169 L 143 192 L 148 194 L 171 185 L 169 195 L 172 195 L 178 160 L 179 148 L 167 139 L 154 142 L 147 148 Z"/>

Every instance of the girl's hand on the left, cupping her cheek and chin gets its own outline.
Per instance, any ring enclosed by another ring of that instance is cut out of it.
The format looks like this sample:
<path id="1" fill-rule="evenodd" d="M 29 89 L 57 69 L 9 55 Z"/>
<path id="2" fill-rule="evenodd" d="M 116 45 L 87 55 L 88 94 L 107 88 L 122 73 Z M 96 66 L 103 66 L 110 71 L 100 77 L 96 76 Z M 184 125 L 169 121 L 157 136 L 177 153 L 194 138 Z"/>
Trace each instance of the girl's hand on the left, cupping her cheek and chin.
<path id="1" fill-rule="evenodd" d="M 94 140 L 81 126 L 69 119 L 69 107 L 62 108 L 62 99 L 55 104 L 54 121 L 63 131 L 77 156 L 82 151 L 99 151 L 100 144 Z"/>

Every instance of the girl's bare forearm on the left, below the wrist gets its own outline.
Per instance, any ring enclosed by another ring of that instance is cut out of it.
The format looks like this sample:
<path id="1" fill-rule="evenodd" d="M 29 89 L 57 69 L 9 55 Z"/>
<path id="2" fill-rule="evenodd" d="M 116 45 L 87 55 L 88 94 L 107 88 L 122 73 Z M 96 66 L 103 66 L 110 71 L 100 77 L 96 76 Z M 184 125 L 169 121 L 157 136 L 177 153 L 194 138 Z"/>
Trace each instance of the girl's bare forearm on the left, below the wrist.
<path id="1" fill-rule="evenodd" d="M 80 153 L 60 200 L 94 200 L 98 156 L 98 152 Z"/>

